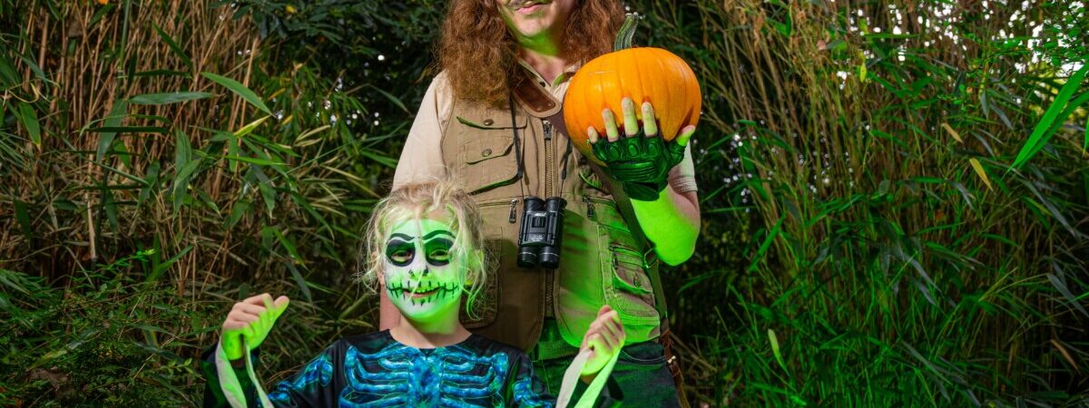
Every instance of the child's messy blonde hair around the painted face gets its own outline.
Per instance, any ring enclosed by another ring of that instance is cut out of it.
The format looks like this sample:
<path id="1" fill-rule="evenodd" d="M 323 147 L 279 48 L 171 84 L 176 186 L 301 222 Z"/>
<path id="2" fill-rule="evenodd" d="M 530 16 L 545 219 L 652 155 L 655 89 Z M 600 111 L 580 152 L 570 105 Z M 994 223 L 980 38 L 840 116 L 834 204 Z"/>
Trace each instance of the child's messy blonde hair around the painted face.
<path id="1" fill-rule="evenodd" d="M 451 258 L 465 267 L 465 312 L 477 319 L 476 304 L 487 284 L 489 257 L 485 248 L 482 222 L 476 201 L 449 180 L 412 183 L 401 186 L 378 201 L 367 222 L 363 248 L 359 250 L 362 281 L 378 287 L 378 274 L 386 264 L 386 238 L 394 225 L 406 220 L 419 220 L 442 210 L 454 233 Z"/>

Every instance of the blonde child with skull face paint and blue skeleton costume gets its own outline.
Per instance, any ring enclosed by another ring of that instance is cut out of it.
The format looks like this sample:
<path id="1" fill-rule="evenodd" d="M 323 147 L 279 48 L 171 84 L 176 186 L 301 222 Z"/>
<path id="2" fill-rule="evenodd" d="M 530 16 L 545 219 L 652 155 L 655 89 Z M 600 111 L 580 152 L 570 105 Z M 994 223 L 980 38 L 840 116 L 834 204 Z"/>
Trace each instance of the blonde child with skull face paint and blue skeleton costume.
<path id="1" fill-rule="evenodd" d="M 372 212 L 362 276 L 386 290 L 400 323 L 333 343 L 266 395 L 252 359 L 289 299 L 245 299 L 205 358 L 205 406 L 553 407 L 572 395 L 582 396 L 579 407 L 616 404 L 615 384 L 603 385 L 625 334 L 608 306 L 584 336 L 583 359 L 568 369 L 559 400 L 521 349 L 465 330 L 462 305 L 472 312 L 489 279 L 480 225 L 473 199 L 448 182 L 393 191 Z"/>

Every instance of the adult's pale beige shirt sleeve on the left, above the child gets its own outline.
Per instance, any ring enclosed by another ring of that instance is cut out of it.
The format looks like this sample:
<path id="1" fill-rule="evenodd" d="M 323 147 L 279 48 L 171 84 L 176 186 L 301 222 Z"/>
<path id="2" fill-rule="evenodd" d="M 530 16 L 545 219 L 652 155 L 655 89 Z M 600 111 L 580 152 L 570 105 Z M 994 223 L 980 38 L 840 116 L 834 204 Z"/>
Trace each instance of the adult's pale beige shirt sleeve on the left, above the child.
<path id="1" fill-rule="evenodd" d="M 393 173 L 393 189 L 411 183 L 431 181 L 446 175 L 442 160 L 442 133 L 453 110 L 452 95 L 445 72 L 439 73 L 424 94 L 416 119 L 408 129 Z"/>

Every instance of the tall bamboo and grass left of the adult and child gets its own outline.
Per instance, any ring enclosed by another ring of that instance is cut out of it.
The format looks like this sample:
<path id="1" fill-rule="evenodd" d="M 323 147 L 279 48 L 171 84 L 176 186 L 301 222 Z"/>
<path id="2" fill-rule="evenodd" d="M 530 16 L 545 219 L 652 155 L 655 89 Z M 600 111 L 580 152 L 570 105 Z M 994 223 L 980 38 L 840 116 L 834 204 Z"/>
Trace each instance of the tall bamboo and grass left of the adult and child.
<path id="1" fill-rule="evenodd" d="M 380 71 L 338 72 L 421 34 L 333 44 L 311 17 L 396 23 L 377 5 L 0 1 L 0 405 L 192 405 L 222 311 L 258 290 L 296 300 L 267 378 L 367 330 L 351 260 L 405 126 L 377 115 L 407 112 Z"/>

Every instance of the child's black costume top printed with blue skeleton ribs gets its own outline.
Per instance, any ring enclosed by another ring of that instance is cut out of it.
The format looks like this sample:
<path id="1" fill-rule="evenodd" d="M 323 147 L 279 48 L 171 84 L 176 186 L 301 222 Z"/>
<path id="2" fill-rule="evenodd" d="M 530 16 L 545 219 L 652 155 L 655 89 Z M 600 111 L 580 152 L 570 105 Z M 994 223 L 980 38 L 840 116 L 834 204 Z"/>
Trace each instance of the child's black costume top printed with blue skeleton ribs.
<path id="1" fill-rule="evenodd" d="M 205 407 L 225 407 L 219 376 L 205 357 Z M 235 371 L 246 401 L 260 406 L 244 369 Z M 585 385 L 576 387 L 582 395 Z M 615 387 L 614 384 L 610 384 Z M 615 393 L 615 390 L 612 391 Z M 596 406 L 615 401 L 609 387 Z M 269 393 L 278 407 L 552 407 L 555 399 L 534 374 L 533 362 L 515 347 L 473 334 L 430 349 L 402 345 L 389 331 L 333 343 Z"/>

